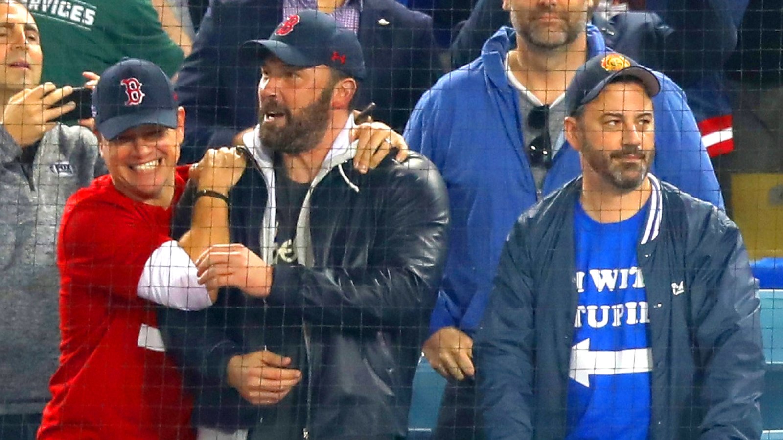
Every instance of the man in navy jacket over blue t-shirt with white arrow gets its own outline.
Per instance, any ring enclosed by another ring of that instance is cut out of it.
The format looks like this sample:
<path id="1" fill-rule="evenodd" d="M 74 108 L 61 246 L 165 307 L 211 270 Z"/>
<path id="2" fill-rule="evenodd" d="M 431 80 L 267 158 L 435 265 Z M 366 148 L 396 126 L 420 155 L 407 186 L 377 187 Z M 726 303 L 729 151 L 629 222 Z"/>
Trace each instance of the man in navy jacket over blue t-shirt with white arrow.
<path id="1" fill-rule="evenodd" d="M 583 177 L 514 225 L 475 337 L 488 438 L 760 438 L 748 254 L 723 211 L 649 172 L 659 89 L 617 54 L 568 86 Z"/>

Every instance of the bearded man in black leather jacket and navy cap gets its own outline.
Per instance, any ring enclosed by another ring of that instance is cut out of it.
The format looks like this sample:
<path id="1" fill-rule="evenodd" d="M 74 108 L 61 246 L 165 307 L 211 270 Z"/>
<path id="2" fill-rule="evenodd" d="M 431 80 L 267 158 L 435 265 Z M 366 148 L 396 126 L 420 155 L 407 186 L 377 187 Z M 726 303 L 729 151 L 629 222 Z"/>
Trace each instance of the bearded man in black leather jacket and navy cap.
<path id="1" fill-rule="evenodd" d="M 243 49 L 262 63 L 247 168 L 230 192 L 183 202 L 229 204 L 235 244 L 197 261 L 200 283 L 222 290 L 203 312 L 160 313 L 194 423 L 210 438 L 405 438 L 446 258 L 444 183 L 414 153 L 353 167 L 365 68 L 330 16 L 303 11 Z"/>

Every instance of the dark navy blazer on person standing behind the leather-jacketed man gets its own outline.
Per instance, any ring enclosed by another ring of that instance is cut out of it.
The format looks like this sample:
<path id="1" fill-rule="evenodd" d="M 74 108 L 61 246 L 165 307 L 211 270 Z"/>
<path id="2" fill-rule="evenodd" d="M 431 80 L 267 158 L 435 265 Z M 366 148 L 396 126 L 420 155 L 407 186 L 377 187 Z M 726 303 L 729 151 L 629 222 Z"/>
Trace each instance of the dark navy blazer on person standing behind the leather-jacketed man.
<path id="1" fill-rule="evenodd" d="M 355 106 L 374 102 L 373 118 L 402 132 L 419 97 L 440 71 L 432 19 L 395 0 L 362 0 L 359 41 L 367 78 Z M 247 40 L 269 38 L 283 16 L 280 0 L 213 0 L 176 88 L 187 112 L 180 163 L 197 161 L 211 146 L 258 123 L 260 69 L 240 60 Z"/>

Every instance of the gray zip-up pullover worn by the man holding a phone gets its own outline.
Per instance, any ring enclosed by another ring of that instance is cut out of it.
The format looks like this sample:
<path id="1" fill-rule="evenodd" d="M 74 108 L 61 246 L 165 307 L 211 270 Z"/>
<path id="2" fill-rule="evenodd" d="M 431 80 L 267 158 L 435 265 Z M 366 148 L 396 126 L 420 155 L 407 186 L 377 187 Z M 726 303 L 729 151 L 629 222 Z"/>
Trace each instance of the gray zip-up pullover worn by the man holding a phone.
<path id="1" fill-rule="evenodd" d="M 56 236 L 65 202 L 103 174 L 84 127 L 46 132 L 32 167 L 0 125 L 0 414 L 39 413 L 60 344 Z"/>

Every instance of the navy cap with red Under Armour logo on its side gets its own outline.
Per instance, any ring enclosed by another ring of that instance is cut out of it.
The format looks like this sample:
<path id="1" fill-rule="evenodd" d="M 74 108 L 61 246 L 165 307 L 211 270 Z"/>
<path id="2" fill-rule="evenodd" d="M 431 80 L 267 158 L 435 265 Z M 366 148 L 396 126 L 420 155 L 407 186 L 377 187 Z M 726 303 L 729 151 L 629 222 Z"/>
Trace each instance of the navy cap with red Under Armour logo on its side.
<path id="1" fill-rule="evenodd" d="M 288 16 L 269 39 L 245 41 L 240 50 L 251 60 L 263 61 L 273 54 L 290 66 L 325 64 L 352 78 L 363 79 L 365 75 L 362 45 L 356 34 L 329 14 L 312 9 Z"/>

